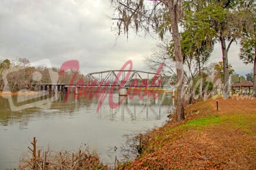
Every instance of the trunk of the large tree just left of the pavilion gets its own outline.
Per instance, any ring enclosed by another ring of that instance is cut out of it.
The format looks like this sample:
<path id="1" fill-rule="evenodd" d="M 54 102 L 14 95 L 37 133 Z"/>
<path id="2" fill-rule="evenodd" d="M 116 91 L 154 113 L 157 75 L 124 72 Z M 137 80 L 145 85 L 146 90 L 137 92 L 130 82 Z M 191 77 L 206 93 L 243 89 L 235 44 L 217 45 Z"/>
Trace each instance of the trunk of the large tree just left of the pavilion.
<path id="1" fill-rule="evenodd" d="M 223 60 L 223 73 L 224 73 L 224 88 L 223 88 L 223 98 L 229 98 L 229 71 L 228 71 L 228 50 L 226 49 L 225 38 L 221 39 L 222 47 L 222 60 Z"/>

